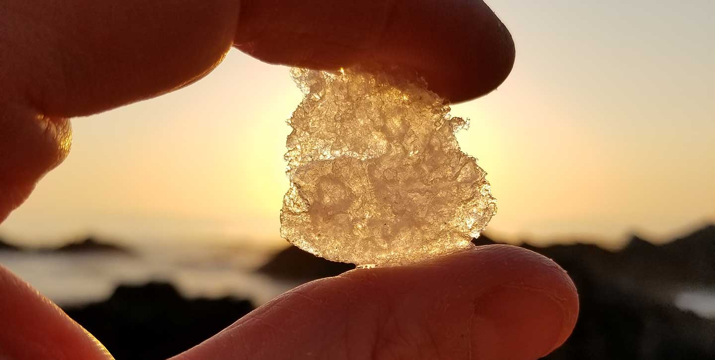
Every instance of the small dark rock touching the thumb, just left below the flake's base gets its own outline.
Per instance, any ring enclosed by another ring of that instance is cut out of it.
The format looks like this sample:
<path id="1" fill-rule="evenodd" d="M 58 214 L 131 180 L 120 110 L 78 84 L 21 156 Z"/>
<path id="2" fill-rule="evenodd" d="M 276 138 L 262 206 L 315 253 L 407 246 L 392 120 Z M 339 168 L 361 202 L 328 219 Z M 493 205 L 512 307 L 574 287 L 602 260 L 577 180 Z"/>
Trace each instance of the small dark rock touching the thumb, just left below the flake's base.
<path id="1" fill-rule="evenodd" d="M 257 271 L 283 280 L 310 281 L 337 276 L 354 268 L 355 265 L 318 258 L 291 245 Z"/>

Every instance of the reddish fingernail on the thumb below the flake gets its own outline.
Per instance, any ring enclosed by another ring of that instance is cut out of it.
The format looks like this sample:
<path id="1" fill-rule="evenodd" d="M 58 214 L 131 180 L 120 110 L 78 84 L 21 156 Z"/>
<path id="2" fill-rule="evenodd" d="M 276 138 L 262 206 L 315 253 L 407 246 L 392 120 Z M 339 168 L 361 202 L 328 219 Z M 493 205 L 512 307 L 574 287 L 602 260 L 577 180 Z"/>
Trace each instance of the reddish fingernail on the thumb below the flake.
<path id="1" fill-rule="evenodd" d="M 525 286 L 497 286 L 476 303 L 473 334 L 477 359 L 538 359 L 561 345 L 564 307 L 553 293 Z"/>

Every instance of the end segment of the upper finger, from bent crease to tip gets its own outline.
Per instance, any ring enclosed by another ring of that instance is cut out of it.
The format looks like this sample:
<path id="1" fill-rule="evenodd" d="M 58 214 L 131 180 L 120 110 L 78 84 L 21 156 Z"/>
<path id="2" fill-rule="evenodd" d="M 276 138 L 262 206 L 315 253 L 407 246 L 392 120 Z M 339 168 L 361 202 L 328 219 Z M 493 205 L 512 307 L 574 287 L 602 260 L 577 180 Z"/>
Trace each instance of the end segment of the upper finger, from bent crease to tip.
<path id="1" fill-rule="evenodd" d="M 481 0 L 247 0 L 235 42 L 277 64 L 413 69 L 453 102 L 496 89 L 515 56 L 511 34 Z"/>

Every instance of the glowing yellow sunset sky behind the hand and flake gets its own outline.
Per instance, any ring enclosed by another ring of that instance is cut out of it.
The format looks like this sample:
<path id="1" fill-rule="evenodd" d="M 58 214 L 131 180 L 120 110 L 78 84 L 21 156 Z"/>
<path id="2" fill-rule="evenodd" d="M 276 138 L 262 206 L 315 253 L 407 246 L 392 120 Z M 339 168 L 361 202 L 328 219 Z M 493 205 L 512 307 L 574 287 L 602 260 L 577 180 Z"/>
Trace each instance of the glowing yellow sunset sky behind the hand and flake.
<path id="1" fill-rule="evenodd" d="M 452 115 L 470 118 L 458 138 L 498 199 L 492 233 L 618 245 L 715 221 L 715 1 L 488 3 L 516 66 Z M 232 51 L 197 84 L 75 119 L 69 158 L 0 234 L 280 245 L 285 120 L 301 96 L 286 67 Z"/>

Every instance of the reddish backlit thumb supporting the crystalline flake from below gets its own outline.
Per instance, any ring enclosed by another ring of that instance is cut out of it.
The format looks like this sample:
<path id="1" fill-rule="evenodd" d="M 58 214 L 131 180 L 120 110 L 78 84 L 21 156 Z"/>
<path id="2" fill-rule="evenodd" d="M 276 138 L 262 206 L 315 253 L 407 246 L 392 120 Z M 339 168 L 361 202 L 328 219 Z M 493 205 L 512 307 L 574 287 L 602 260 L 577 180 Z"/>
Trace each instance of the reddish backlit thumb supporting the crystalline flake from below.
<path id="1" fill-rule="evenodd" d="M 493 245 L 313 281 L 174 360 L 538 359 L 577 313 L 555 263 Z"/>

